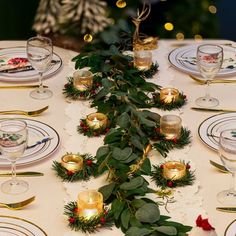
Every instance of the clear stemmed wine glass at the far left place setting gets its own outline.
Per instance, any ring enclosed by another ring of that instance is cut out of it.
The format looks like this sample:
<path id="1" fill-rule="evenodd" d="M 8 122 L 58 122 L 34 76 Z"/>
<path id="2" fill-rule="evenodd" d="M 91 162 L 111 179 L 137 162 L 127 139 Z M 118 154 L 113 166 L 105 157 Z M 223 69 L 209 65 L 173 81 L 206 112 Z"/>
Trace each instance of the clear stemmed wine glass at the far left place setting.
<path id="1" fill-rule="evenodd" d="M 51 39 L 42 36 L 32 37 L 27 40 L 27 57 L 32 67 L 39 73 L 39 87 L 30 93 L 35 99 L 47 99 L 52 96 L 52 91 L 43 87 L 43 73 L 49 68 L 53 46 Z"/>

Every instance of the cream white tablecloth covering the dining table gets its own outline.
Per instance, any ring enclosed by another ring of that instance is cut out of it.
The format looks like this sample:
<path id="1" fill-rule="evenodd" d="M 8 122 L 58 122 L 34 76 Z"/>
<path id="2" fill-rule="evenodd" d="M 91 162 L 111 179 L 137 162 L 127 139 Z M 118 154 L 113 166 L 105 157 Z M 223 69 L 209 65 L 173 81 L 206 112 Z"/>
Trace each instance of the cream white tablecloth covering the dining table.
<path id="1" fill-rule="evenodd" d="M 216 41 L 222 43 L 223 41 Z M 210 223 L 216 228 L 219 236 L 223 235 L 226 226 L 234 220 L 235 214 L 223 213 L 216 211 L 216 207 L 220 204 L 216 200 L 216 194 L 223 189 L 229 187 L 230 175 L 223 174 L 214 169 L 209 160 L 214 160 L 220 163 L 219 157 L 216 152 L 206 147 L 198 137 L 198 126 L 207 117 L 215 113 L 196 112 L 190 109 L 194 105 L 194 100 L 200 95 L 204 94 L 204 86 L 196 84 L 191 80 L 188 75 L 177 71 L 172 68 L 168 62 L 168 53 L 175 48 L 173 45 L 176 41 L 160 40 L 158 49 L 153 51 L 153 60 L 159 63 L 159 72 L 150 79 L 150 82 L 158 83 L 163 87 L 173 86 L 183 91 L 187 95 L 188 103 L 186 106 L 178 111 L 158 111 L 162 114 L 175 113 L 179 114 L 183 120 L 183 125 L 188 127 L 192 132 L 192 144 L 185 148 L 185 150 L 172 151 L 170 158 L 172 159 L 189 159 L 194 163 L 196 168 L 197 186 L 200 188 L 198 193 L 194 195 L 196 199 L 199 198 L 198 209 L 201 212 L 192 212 L 193 216 L 203 214 L 209 218 Z M 187 43 L 193 43 L 193 41 L 187 41 Z M 0 48 L 24 46 L 24 41 L 1 41 Z M 45 105 L 49 105 L 49 110 L 39 117 L 32 119 L 42 121 L 48 125 L 54 127 L 60 137 L 61 144 L 58 150 L 49 158 L 37 163 L 36 165 L 21 168 L 23 170 L 42 171 L 43 177 L 25 178 L 30 184 L 30 190 L 23 195 L 10 196 L 0 193 L 0 201 L 17 201 L 25 199 L 28 196 L 35 195 L 36 200 L 27 208 L 20 211 L 10 211 L 8 209 L 0 209 L 0 215 L 17 216 L 34 222 L 42 227 L 49 236 L 59 235 L 83 235 L 82 233 L 72 233 L 67 228 L 67 220 L 63 216 L 63 208 L 65 202 L 71 199 L 69 193 L 70 184 L 65 185 L 55 176 L 52 171 L 53 160 L 60 160 L 61 156 L 65 152 L 91 152 L 95 154 L 96 147 L 102 144 L 101 139 L 90 139 L 84 142 L 84 137 L 76 133 L 73 130 L 73 125 L 76 125 L 76 119 L 72 119 L 68 112 L 71 105 L 76 106 L 80 112 L 78 112 L 77 122 L 81 115 L 88 114 L 89 109 L 87 103 L 79 104 L 80 102 L 73 102 L 69 104 L 62 94 L 62 89 L 67 81 L 67 76 L 72 75 L 74 69 L 73 64 L 70 62 L 71 58 L 77 53 L 64 50 L 55 47 L 55 52 L 63 59 L 62 70 L 54 76 L 46 79 L 44 83 L 53 90 L 53 97 L 47 100 L 35 100 L 29 96 L 29 90 L 1 90 L 0 91 L 0 107 L 1 110 L 9 109 L 37 109 Z M 37 83 L 35 81 L 34 83 Z M 6 84 L 6 82 L 0 82 L 0 85 Z M 212 84 L 211 94 L 216 96 L 220 100 L 221 107 L 235 107 L 235 89 L 236 84 Z M 70 114 L 70 112 L 69 112 Z M 83 116 L 83 117 L 84 117 Z M 74 137 L 78 138 L 78 143 L 74 141 Z M 155 158 L 155 157 L 152 157 Z M 158 155 L 157 155 L 158 158 Z M 153 159 L 154 160 L 154 159 Z M 155 162 L 155 160 L 154 160 Z M 0 179 L 0 183 L 5 178 Z M 93 183 L 93 181 L 91 181 Z M 90 183 L 73 183 L 73 188 L 78 186 L 78 191 L 81 188 L 90 188 Z M 66 189 L 67 191 L 66 191 Z M 93 186 L 96 187 L 96 186 Z M 73 190 L 74 191 L 74 190 Z M 76 199 L 74 199 L 76 200 Z M 183 209 L 185 210 L 185 209 Z M 191 209 L 191 206 L 186 211 L 196 211 Z M 162 214 L 167 214 L 162 212 Z M 207 215 L 206 215 L 207 214 Z M 176 219 L 175 219 L 176 220 Z M 181 219 L 180 219 L 181 220 Z M 184 222 L 183 222 L 184 223 Z M 189 222 L 186 222 L 189 223 Z M 192 222 L 195 225 L 195 222 Z M 104 234 L 105 232 L 103 232 Z M 109 231 L 110 233 L 110 231 Z M 115 229 L 114 234 L 122 235 L 121 231 Z"/>

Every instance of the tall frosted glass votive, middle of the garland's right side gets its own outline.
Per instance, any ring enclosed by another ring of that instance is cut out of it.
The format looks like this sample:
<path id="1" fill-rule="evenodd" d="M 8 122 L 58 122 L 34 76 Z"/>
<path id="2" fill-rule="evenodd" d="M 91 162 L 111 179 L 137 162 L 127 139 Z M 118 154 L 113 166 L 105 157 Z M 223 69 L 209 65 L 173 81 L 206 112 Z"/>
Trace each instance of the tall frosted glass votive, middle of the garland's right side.
<path id="1" fill-rule="evenodd" d="M 178 139 L 181 135 L 182 120 L 177 115 L 164 115 L 160 119 L 160 132 L 166 139 Z"/>

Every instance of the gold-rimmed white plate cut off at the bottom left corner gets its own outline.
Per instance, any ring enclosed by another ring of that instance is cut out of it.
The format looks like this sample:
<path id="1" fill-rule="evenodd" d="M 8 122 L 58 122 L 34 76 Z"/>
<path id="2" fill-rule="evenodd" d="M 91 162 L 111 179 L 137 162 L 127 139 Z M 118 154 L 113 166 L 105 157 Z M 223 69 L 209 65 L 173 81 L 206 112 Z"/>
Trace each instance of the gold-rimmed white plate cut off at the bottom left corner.
<path id="1" fill-rule="evenodd" d="M 0 215 L 0 236 L 47 236 L 47 234 L 28 220 Z"/>

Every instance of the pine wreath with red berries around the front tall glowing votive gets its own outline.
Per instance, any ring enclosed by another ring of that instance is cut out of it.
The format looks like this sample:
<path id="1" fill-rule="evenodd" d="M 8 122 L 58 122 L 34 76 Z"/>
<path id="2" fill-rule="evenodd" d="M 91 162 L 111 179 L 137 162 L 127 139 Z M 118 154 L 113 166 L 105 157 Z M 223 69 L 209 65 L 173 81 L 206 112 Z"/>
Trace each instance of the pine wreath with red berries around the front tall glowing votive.
<path id="1" fill-rule="evenodd" d="M 68 226 L 74 231 L 83 233 L 95 233 L 101 228 L 111 228 L 113 225 L 113 215 L 111 210 L 104 211 L 90 219 L 79 216 L 77 203 L 69 202 L 64 207 L 64 215 L 68 217 Z"/>

